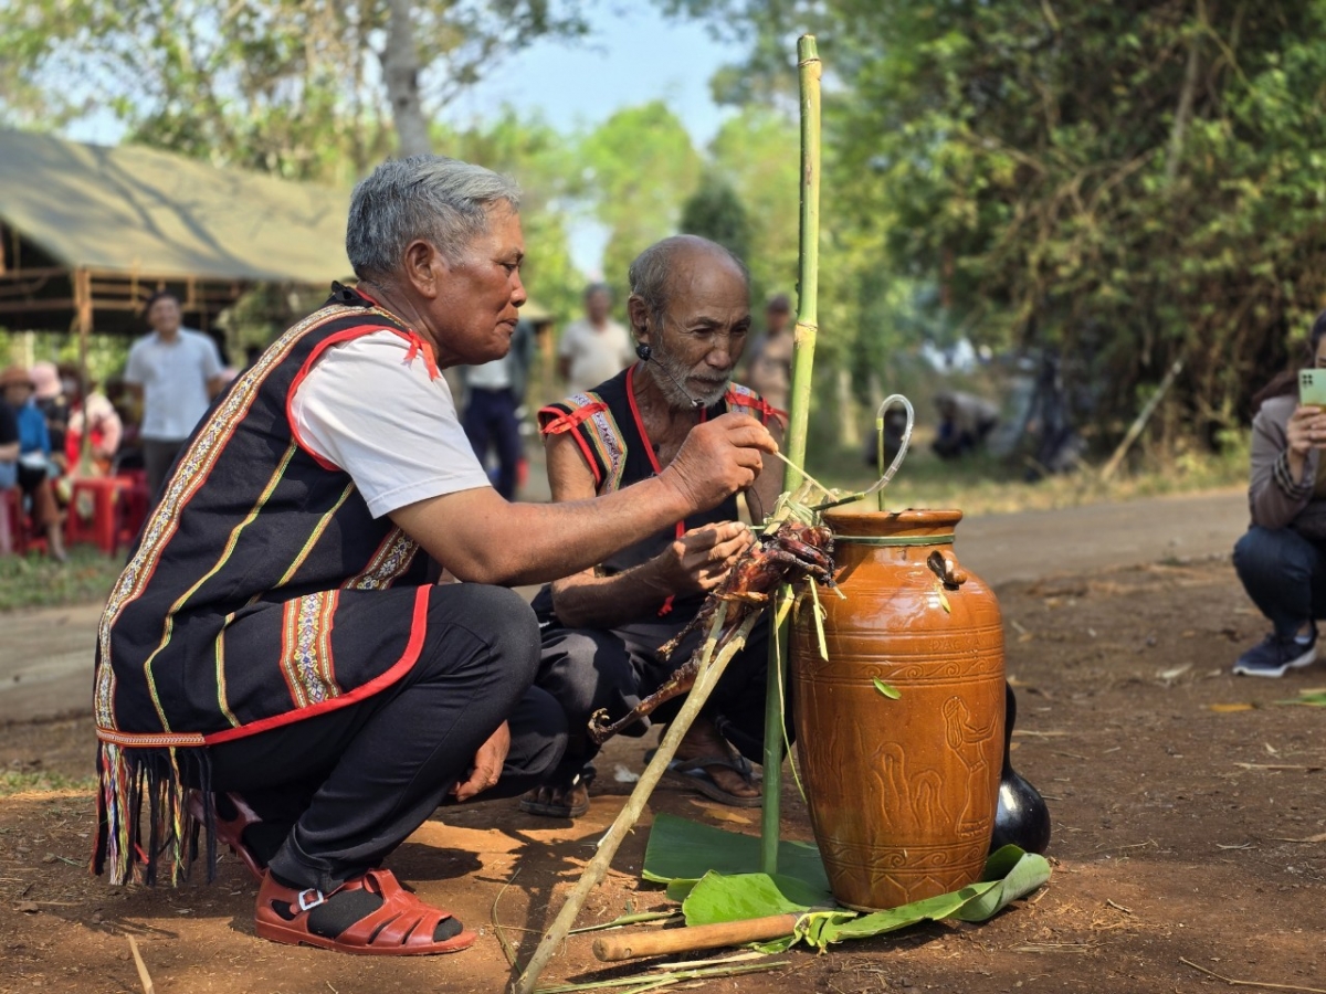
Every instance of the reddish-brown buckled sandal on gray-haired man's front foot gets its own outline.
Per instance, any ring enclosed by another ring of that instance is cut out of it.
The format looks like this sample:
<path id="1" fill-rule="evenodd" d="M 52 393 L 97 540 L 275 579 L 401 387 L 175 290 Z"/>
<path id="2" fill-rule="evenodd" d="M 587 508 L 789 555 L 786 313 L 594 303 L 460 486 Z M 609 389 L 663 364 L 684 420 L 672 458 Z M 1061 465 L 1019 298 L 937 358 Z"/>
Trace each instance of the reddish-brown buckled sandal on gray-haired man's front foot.
<path id="1" fill-rule="evenodd" d="M 326 896 L 285 887 L 268 873 L 255 926 L 273 942 L 355 956 L 459 953 L 477 938 L 451 912 L 415 897 L 390 869 L 370 869 Z"/>

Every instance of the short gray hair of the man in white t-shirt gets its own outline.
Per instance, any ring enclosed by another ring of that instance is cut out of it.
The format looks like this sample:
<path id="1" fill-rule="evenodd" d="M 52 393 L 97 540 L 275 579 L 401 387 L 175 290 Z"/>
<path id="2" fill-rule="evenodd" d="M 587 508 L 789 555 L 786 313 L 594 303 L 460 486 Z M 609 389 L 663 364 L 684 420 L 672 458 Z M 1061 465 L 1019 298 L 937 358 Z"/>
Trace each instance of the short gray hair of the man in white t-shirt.
<path id="1" fill-rule="evenodd" d="M 416 239 L 456 261 L 488 231 L 488 208 L 499 203 L 520 209 L 520 187 L 483 166 L 443 155 L 390 159 L 350 195 L 345 253 L 361 280 L 396 272 Z"/>

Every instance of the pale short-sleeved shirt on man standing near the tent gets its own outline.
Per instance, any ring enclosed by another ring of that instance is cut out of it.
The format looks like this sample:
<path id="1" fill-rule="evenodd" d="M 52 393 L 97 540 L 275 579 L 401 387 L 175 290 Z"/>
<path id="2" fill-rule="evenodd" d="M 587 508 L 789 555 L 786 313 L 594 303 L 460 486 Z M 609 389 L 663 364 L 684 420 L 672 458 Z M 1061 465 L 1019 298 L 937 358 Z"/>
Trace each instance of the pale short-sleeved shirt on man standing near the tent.
<path id="1" fill-rule="evenodd" d="M 202 331 L 179 330 L 172 342 L 152 331 L 129 350 L 125 382 L 143 388 L 142 437 L 187 439 L 207 414 L 207 382 L 221 374 L 216 343 Z"/>

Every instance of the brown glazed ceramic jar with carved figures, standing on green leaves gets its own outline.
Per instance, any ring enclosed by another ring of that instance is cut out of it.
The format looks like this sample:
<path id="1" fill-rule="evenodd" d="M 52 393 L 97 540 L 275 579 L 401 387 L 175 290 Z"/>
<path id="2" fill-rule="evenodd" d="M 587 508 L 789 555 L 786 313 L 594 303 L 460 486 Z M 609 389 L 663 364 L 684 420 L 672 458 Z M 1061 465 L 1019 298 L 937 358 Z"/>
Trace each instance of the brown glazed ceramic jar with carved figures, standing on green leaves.
<path id="1" fill-rule="evenodd" d="M 819 591 L 829 659 L 805 596 L 790 656 L 834 897 L 876 911 L 981 875 L 1004 754 L 1004 630 L 994 595 L 953 558 L 961 512 L 857 508 L 825 513 L 846 595 Z"/>

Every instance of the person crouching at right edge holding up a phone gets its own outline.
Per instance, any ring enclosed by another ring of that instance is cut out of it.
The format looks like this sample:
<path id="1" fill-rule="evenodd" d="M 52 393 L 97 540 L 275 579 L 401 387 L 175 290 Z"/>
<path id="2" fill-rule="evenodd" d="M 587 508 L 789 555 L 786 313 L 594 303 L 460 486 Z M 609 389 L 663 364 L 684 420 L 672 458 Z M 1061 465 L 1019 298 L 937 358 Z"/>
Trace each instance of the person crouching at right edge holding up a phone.
<path id="1" fill-rule="evenodd" d="M 1326 311 L 1313 323 L 1306 364 L 1326 368 Z M 1326 616 L 1326 411 L 1298 403 L 1296 372 L 1253 403 L 1252 525 L 1235 546 L 1235 570 L 1274 631 L 1235 673 L 1277 677 L 1317 659 L 1313 619 Z"/>

